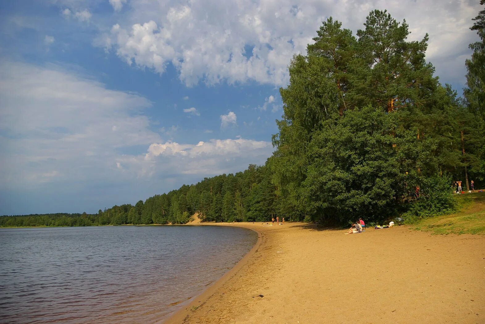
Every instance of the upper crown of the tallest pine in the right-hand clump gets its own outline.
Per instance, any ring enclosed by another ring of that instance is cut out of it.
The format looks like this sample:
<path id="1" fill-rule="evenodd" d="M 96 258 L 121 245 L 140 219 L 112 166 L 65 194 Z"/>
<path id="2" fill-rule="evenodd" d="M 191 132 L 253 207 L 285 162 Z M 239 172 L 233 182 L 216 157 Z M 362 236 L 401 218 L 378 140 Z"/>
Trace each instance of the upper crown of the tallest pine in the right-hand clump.
<path id="1" fill-rule="evenodd" d="M 428 34 L 419 42 L 406 41 L 406 21 L 397 22 L 386 10 L 372 11 L 364 26 L 357 31 L 349 97 L 387 112 L 425 104 L 437 84 L 434 67 L 424 59 Z"/>

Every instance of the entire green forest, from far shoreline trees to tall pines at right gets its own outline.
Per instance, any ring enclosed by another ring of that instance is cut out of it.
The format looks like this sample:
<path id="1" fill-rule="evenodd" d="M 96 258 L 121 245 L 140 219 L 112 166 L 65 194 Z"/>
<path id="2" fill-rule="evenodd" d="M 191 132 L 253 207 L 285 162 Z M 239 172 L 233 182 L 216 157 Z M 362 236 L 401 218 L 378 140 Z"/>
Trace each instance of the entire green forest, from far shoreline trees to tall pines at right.
<path id="1" fill-rule="evenodd" d="M 194 212 L 204 221 L 280 216 L 343 225 L 450 211 L 455 180 L 467 191 L 471 180 L 485 184 L 485 10 L 473 20 L 480 41 L 469 46 L 463 97 L 434 76 L 427 34 L 408 41 L 407 23 L 387 11 L 372 11 L 356 36 L 330 17 L 306 55 L 291 60 L 265 165 L 134 206 L 3 216 L 0 226 L 184 224 Z"/>

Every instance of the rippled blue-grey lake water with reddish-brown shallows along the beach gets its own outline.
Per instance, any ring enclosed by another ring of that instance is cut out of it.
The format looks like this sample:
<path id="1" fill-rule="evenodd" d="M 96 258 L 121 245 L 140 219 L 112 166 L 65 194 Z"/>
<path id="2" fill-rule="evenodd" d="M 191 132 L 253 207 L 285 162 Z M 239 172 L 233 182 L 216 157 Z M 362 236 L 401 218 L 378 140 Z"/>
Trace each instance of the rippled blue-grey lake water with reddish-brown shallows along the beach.
<path id="1" fill-rule="evenodd" d="M 161 323 L 257 239 L 216 226 L 0 229 L 0 323 Z"/>

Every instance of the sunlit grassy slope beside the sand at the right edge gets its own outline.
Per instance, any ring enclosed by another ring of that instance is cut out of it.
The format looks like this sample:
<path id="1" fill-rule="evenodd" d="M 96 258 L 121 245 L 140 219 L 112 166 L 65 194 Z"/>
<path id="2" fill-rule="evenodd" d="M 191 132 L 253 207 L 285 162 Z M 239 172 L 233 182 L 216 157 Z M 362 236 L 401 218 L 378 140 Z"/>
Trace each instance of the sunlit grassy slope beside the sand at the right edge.
<path id="1" fill-rule="evenodd" d="M 433 234 L 485 235 L 485 193 L 456 196 L 459 212 L 420 220 L 413 229 Z"/>

